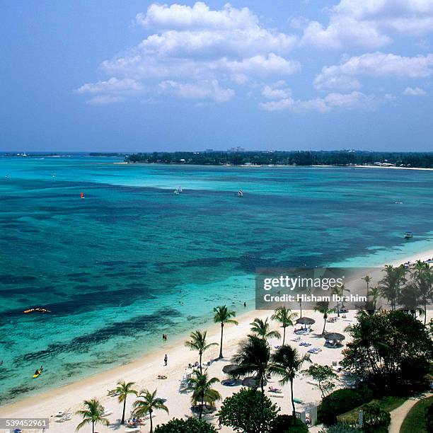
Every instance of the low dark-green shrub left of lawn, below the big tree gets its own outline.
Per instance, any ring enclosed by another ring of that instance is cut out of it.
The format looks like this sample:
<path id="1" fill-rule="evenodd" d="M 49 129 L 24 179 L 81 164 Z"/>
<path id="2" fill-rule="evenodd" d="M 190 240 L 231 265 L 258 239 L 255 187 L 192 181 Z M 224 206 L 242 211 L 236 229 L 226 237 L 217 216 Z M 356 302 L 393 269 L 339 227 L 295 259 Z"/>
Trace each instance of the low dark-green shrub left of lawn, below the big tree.
<path id="1" fill-rule="evenodd" d="M 371 400 L 371 392 L 364 390 L 363 393 L 350 388 L 337 389 L 329 396 L 323 398 L 317 410 L 319 422 L 325 425 L 337 424 L 337 415 L 341 415 L 357 406 Z"/>

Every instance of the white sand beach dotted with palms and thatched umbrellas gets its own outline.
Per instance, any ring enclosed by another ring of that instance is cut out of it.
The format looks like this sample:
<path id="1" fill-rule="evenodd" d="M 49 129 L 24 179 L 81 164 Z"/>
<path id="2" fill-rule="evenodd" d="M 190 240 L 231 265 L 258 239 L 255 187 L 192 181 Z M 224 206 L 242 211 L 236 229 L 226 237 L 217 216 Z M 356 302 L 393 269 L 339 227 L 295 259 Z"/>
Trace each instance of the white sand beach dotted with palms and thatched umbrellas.
<path id="1" fill-rule="evenodd" d="M 422 255 L 412 255 L 405 261 L 415 261 L 417 259 L 427 260 L 433 257 L 433 250 Z M 393 262 L 393 260 L 390 260 Z M 401 260 L 400 260 L 401 262 Z M 394 262 L 394 264 L 398 264 Z M 429 317 L 432 316 L 432 312 L 429 311 Z M 223 366 L 230 363 L 230 358 L 236 352 L 238 342 L 241 341 L 250 332 L 249 323 L 254 318 L 266 318 L 271 316 L 272 311 L 252 311 L 244 313 L 238 317 L 239 325 L 226 325 L 224 328 L 224 360 L 213 362 L 209 366 L 209 375 L 217 376 L 219 379 L 224 380 L 226 376 L 221 371 Z M 347 313 L 346 318 L 339 318 L 335 323 L 327 323 L 326 330 L 345 333 L 345 328 L 350 323 L 354 323 L 354 311 Z M 323 317 L 320 313 L 315 311 L 304 311 L 303 316 L 308 316 L 316 320 L 316 324 L 313 325 L 313 332 L 308 336 L 302 336 L 301 341 L 311 342 L 311 347 L 320 347 L 322 349 L 318 354 L 311 354 L 313 362 L 318 364 L 331 365 L 332 362 L 338 362 L 342 359 L 342 347 L 328 348 L 324 347 L 325 340 L 320 336 L 323 328 Z M 278 324 L 272 323 L 273 328 L 277 329 Z M 212 325 L 208 328 L 208 341 L 219 342 L 220 328 L 219 325 Z M 293 328 L 287 328 L 287 342 L 296 345 L 301 353 L 304 353 L 310 347 L 300 347 L 299 342 L 292 342 L 291 338 L 294 337 Z M 115 398 L 107 396 L 107 390 L 115 387 L 118 380 L 134 381 L 136 383 L 136 389 L 148 388 L 150 391 L 158 389 L 158 396 L 167 398 L 166 405 L 170 410 L 170 414 L 166 412 L 157 412 L 154 418 L 155 425 L 161 422 L 166 422 L 173 417 L 185 417 L 192 414 L 190 410 L 190 393 L 179 393 L 179 383 L 187 364 L 194 363 L 197 359 L 197 353 L 191 352 L 184 346 L 185 337 L 177 341 L 161 342 L 161 348 L 151 354 L 148 354 L 140 359 L 137 359 L 129 364 L 119 366 L 115 369 L 110 369 L 95 376 L 88 377 L 81 381 L 71 383 L 67 386 L 55 388 L 52 391 L 41 393 L 38 396 L 25 398 L 25 400 L 18 401 L 17 403 L 11 403 L 4 405 L 0 408 L 0 417 L 48 417 L 50 418 L 50 432 L 74 432 L 76 425 L 79 424 L 80 418 L 74 415 L 76 410 L 81 408 L 81 402 L 85 399 L 98 398 L 107 410 L 112 411 L 112 415 L 108 415 L 108 419 L 112 422 L 110 427 L 103 427 L 98 425 L 96 430 L 102 432 L 124 432 L 127 429 L 120 426 L 120 417 L 122 415 L 122 406 L 117 403 Z M 347 340 L 345 340 L 345 343 Z M 281 344 L 281 340 L 270 340 L 272 347 Z M 217 358 L 219 353 L 219 347 L 212 347 L 211 350 L 204 354 L 204 362 L 210 359 Z M 168 354 L 168 366 L 163 365 L 164 354 Z M 125 362 L 128 359 L 125 357 Z M 168 376 L 168 379 L 161 380 L 157 379 L 158 374 L 164 374 Z M 29 379 L 33 380 L 33 379 Z M 317 404 L 321 400 L 321 393 L 318 387 L 314 384 L 309 383 L 311 380 L 299 376 L 294 383 L 294 396 L 308 404 Z M 277 379 L 272 379 L 271 383 L 273 386 L 278 386 Z M 215 388 L 220 391 L 223 398 L 230 396 L 233 392 L 238 391 L 241 387 L 228 387 L 218 383 Z M 289 400 L 289 386 L 282 388 L 282 396 L 272 396 L 272 393 L 267 392 L 268 396 L 271 396 L 272 400 L 275 401 L 282 408 L 282 413 L 290 412 L 290 400 Z M 127 417 L 132 408 L 133 396 L 129 396 L 127 403 Z M 219 403 L 217 403 L 219 408 Z M 302 410 L 303 405 L 296 405 L 297 410 Z M 72 419 L 67 422 L 56 422 L 58 420 L 55 417 L 59 411 L 67 411 L 73 414 Z M 217 424 L 217 420 L 212 420 Z M 26 429 L 25 432 L 29 430 Z M 37 430 L 38 432 L 40 430 Z M 83 432 L 86 428 L 83 429 Z M 88 431 L 88 429 L 87 429 Z M 142 432 L 149 431 L 149 424 L 142 427 Z M 312 429 L 311 431 L 314 431 Z M 231 429 L 223 427 L 221 432 L 231 432 Z"/>

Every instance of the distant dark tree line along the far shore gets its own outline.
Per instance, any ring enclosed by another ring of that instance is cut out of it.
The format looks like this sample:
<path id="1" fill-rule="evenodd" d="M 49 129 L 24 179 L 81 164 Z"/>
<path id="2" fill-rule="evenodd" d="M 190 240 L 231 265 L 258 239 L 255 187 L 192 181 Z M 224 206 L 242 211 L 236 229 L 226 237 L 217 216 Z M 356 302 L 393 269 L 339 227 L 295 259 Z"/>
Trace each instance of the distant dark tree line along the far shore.
<path id="1" fill-rule="evenodd" d="M 185 163 L 197 165 L 233 166 L 348 166 L 374 163 L 402 167 L 433 168 L 433 152 L 376 152 L 376 151 L 202 151 L 149 152 L 125 156 L 128 163 Z"/>

